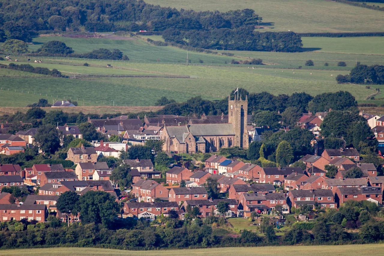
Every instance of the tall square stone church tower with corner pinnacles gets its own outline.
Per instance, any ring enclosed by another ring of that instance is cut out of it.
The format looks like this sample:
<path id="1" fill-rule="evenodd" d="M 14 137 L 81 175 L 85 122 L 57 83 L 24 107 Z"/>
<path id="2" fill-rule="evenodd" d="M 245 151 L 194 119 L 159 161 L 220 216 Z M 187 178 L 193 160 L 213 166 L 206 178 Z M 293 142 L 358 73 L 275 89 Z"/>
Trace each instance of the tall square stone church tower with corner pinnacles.
<path id="1" fill-rule="evenodd" d="M 233 146 L 240 148 L 248 148 L 249 139 L 247 131 L 247 115 L 248 115 L 248 97 L 245 95 L 245 100 L 240 99 L 235 95 L 235 100 L 228 97 L 228 123 L 232 123 L 235 131 L 235 141 Z"/>

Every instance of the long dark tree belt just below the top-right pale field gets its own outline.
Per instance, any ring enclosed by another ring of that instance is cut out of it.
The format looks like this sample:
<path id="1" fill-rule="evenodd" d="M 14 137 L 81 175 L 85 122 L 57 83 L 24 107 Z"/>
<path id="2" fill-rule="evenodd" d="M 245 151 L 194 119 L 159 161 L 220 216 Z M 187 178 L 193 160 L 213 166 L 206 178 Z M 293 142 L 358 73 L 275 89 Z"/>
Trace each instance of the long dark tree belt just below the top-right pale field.
<path id="1" fill-rule="evenodd" d="M 218 28 L 211 30 L 164 30 L 166 42 L 195 48 L 263 52 L 298 52 L 303 46 L 294 32 L 254 32 L 254 26 Z"/>

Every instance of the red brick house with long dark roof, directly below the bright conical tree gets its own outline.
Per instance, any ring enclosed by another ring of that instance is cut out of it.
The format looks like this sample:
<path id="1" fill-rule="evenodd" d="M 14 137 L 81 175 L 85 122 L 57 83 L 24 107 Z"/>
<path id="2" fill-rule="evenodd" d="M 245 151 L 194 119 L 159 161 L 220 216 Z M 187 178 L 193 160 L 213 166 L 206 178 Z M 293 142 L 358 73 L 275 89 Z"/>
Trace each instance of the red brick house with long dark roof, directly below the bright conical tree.
<path id="1" fill-rule="evenodd" d="M 291 173 L 301 173 L 304 171 L 300 167 L 283 167 L 283 168 L 262 168 L 260 170 L 260 183 L 270 183 L 274 185 L 281 185 L 284 183 L 284 179 Z"/>

